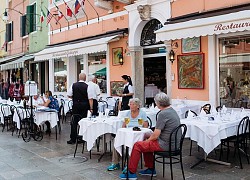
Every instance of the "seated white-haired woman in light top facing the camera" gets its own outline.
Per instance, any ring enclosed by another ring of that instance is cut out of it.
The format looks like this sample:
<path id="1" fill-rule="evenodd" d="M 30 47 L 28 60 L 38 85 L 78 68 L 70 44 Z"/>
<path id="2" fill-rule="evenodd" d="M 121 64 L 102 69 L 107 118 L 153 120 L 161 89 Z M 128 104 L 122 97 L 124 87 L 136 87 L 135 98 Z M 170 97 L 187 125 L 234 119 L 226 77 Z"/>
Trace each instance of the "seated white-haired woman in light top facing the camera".
<path id="1" fill-rule="evenodd" d="M 126 122 L 123 122 L 122 127 L 125 128 L 127 127 L 136 127 L 136 126 L 142 126 L 147 128 L 148 127 L 148 121 L 147 121 L 147 115 L 146 113 L 140 109 L 141 101 L 138 98 L 132 98 L 129 100 L 129 107 L 130 110 L 126 114 L 126 118 L 129 118 L 130 121 L 128 124 Z M 138 119 L 143 119 L 142 125 L 140 125 L 138 122 Z M 112 164 L 108 166 L 107 170 L 108 171 L 113 171 L 120 169 L 120 154 L 116 151 L 113 150 L 113 155 L 112 155 Z"/>

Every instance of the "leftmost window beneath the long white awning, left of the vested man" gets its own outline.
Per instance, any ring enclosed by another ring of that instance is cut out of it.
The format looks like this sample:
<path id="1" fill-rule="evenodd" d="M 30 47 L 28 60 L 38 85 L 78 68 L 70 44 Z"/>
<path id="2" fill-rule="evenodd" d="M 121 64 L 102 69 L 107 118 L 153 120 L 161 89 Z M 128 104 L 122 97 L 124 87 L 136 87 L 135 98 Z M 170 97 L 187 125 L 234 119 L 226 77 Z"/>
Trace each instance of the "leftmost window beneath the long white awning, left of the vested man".
<path id="1" fill-rule="evenodd" d="M 60 58 L 54 60 L 54 91 L 67 91 L 67 58 Z"/>

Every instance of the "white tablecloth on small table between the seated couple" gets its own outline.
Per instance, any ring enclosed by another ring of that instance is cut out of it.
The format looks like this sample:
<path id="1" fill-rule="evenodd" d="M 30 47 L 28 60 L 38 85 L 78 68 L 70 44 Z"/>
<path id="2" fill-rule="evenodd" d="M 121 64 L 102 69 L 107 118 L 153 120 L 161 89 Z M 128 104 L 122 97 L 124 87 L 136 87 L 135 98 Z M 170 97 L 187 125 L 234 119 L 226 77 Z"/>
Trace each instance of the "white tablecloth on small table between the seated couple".
<path id="1" fill-rule="evenodd" d="M 134 144 L 137 141 L 143 141 L 145 137 L 149 137 L 152 133 L 152 130 L 148 128 L 141 128 L 141 131 L 133 131 L 133 128 L 120 128 L 116 133 L 114 147 L 122 155 L 122 146 L 127 146 L 130 155 Z"/>

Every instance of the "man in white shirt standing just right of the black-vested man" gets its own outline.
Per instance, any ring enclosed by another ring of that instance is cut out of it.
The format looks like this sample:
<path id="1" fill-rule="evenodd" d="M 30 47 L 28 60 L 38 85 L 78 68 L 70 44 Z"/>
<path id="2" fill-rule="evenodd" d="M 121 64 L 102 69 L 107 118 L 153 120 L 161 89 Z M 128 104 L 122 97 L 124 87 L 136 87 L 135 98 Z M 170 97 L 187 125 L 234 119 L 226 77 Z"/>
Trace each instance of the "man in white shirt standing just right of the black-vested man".
<path id="1" fill-rule="evenodd" d="M 89 75 L 88 88 L 93 92 L 93 116 L 98 116 L 98 96 L 100 96 L 101 91 L 99 86 L 96 84 L 96 77 L 94 75 Z"/>

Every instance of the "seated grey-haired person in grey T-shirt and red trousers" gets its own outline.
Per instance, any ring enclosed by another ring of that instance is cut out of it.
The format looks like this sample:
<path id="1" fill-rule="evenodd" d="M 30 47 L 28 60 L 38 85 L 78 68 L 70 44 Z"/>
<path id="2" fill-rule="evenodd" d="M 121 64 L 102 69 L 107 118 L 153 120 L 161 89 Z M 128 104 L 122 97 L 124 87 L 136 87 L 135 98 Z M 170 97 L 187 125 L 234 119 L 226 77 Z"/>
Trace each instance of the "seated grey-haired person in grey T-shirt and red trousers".
<path id="1" fill-rule="evenodd" d="M 146 170 L 139 172 L 140 175 L 156 176 L 156 171 L 153 169 L 153 152 L 168 150 L 169 136 L 173 129 L 180 125 L 180 118 L 176 111 L 170 106 L 170 99 L 165 93 L 159 93 L 155 96 L 155 103 L 161 110 L 157 116 L 155 130 L 151 136 L 145 141 L 139 141 L 134 144 L 131 157 L 129 160 L 129 179 L 137 179 L 136 170 L 143 153 Z M 121 179 L 127 179 L 127 174 L 121 174 Z"/>

